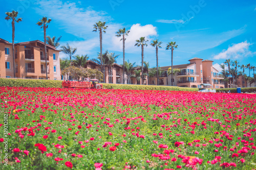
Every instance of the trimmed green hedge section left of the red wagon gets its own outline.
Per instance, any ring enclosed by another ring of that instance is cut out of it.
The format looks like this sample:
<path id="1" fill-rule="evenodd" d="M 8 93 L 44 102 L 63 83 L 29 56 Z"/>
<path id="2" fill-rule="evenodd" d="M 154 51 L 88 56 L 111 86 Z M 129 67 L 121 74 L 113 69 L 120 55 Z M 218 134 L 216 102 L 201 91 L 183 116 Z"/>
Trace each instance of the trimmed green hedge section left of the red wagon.
<path id="1" fill-rule="evenodd" d="M 9 87 L 61 87 L 60 80 L 0 79 L 0 86 Z"/>

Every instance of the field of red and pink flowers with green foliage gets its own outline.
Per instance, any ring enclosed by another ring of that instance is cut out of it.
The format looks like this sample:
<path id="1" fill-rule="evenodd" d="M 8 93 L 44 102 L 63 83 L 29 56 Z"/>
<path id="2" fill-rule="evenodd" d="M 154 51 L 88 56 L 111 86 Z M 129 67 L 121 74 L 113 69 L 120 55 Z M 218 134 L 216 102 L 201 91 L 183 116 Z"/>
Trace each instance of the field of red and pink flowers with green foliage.
<path id="1" fill-rule="evenodd" d="M 255 94 L 0 87 L 0 97 L 1 169 L 256 168 Z"/>

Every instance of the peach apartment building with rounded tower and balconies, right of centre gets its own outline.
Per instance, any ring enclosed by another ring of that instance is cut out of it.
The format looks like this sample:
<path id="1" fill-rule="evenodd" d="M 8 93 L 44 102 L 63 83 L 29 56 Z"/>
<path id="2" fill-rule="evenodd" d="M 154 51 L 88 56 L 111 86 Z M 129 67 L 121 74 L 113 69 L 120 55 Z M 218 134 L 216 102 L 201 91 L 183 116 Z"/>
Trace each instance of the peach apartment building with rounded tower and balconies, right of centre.
<path id="1" fill-rule="evenodd" d="M 203 60 L 200 58 L 193 58 L 188 60 L 188 64 L 173 65 L 173 68 L 179 69 L 173 76 L 167 75 L 167 70 L 171 66 L 161 67 L 163 71 L 159 77 L 159 85 L 179 86 L 179 87 L 209 87 L 209 88 L 224 88 L 223 79 L 219 75 L 219 71 L 212 66 L 211 60 Z M 157 78 L 149 79 L 149 84 L 156 85 Z"/>

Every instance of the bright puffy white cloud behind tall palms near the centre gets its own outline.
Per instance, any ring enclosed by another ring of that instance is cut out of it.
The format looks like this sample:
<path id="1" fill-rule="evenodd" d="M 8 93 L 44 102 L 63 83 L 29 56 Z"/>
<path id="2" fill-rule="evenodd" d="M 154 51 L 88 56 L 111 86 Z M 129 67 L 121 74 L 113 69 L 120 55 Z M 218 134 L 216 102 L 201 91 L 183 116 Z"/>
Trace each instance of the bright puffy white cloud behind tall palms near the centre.
<path id="1" fill-rule="evenodd" d="M 115 34 L 114 34 L 115 35 Z M 120 42 L 120 37 L 114 36 L 112 37 L 113 43 L 115 47 L 118 47 L 116 51 L 122 50 L 122 42 Z M 140 37 L 145 37 L 145 39 L 148 40 L 147 44 L 150 45 L 151 38 L 150 36 L 156 36 L 157 35 L 157 28 L 153 25 L 145 25 L 141 26 L 140 23 L 134 24 L 131 29 L 129 36 L 126 36 L 125 40 L 125 50 L 131 51 L 137 51 L 136 47 L 134 47 L 134 44 L 136 43 L 136 40 Z"/>

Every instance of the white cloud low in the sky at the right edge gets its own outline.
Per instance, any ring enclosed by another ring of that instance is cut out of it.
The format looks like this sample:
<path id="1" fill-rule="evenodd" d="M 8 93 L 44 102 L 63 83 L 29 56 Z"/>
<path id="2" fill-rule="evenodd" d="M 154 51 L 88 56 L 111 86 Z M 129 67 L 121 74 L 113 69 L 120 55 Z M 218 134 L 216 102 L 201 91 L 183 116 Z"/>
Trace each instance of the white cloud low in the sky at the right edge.
<path id="1" fill-rule="evenodd" d="M 223 50 L 218 55 L 215 55 L 214 59 L 238 59 L 256 54 L 255 52 L 253 53 L 249 50 L 250 45 L 252 44 L 247 41 L 232 44 L 232 46 L 229 46 L 227 50 Z"/>

